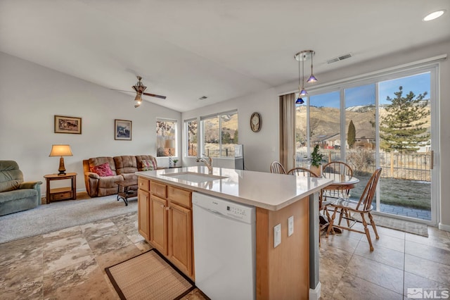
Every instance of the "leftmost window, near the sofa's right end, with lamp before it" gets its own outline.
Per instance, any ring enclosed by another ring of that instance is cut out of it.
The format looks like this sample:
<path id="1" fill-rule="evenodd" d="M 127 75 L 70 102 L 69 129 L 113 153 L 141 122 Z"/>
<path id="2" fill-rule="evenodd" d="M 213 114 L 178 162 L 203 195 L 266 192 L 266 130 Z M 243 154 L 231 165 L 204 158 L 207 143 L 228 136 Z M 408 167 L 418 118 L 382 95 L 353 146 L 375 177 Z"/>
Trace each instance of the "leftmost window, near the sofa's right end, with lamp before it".
<path id="1" fill-rule="evenodd" d="M 169 140 L 174 142 L 167 147 Z M 176 156 L 176 120 L 156 120 L 156 156 Z"/>

